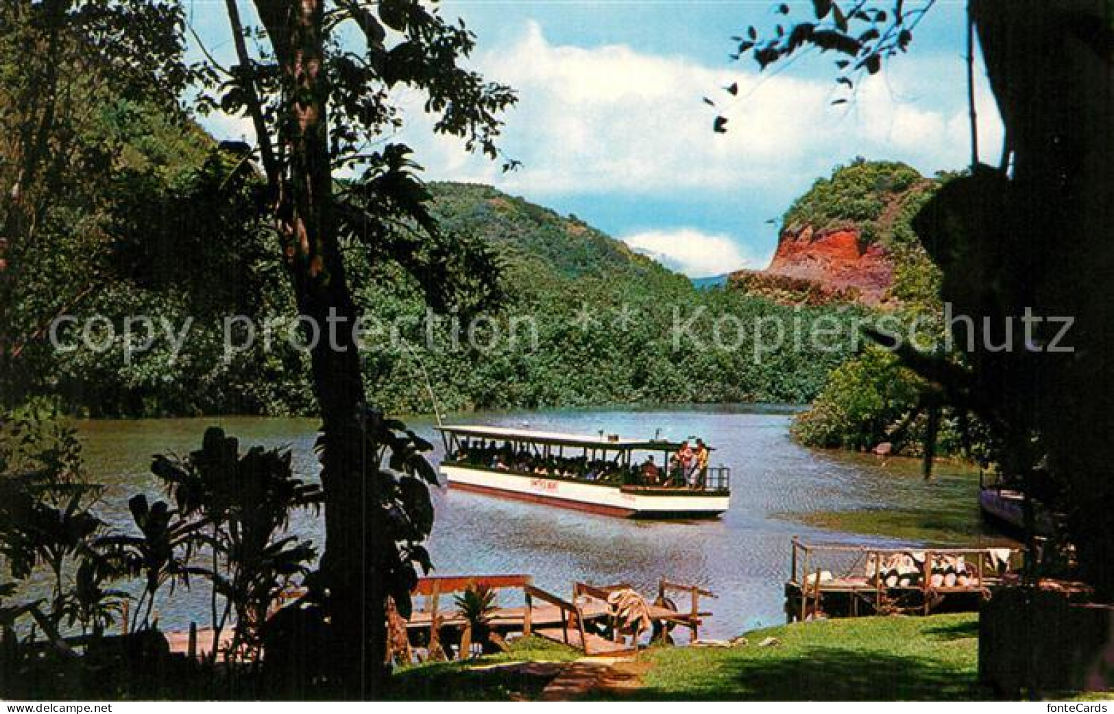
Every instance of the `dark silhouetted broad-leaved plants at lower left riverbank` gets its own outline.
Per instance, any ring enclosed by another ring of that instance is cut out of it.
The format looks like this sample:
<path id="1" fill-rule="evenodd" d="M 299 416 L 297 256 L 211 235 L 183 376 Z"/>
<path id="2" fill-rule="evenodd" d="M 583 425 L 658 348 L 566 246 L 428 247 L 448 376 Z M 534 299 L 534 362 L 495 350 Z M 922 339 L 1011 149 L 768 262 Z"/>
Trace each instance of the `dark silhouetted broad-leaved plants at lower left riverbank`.
<path id="1" fill-rule="evenodd" d="M 113 652 L 113 639 L 157 642 L 156 601 L 165 604 L 177 587 L 197 581 L 211 591 L 214 639 L 234 624 L 228 648 L 257 659 L 261 626 L 277 596 L 302 585 L 316 564 L 313 545 L 286 526 L 295 509 L 320 505 L 320 487 L 293 476 L 289 450 L 242 454 L 236 439 L 218 429 L 206 432 L 202 448 L 185 459 L 155 457 L 152 470 L 173 505 L 137 493 L 127 503 L 134 522 L 109 527 L 96 511 L 113 505 L 91 497 L 99 489 L 85 480 L 72 430 L 41 410 L 0 418 L 4 696 L 17 686 L 33 687 L 36 673 L 49 679 L 58 671 L 52 667 L 62 666 L 41 657 L 38 633 L 49 652 L 85 676 L 106 666 L 100 657 Z M 432 511 L 426 514 L 431 522 Z M 428 563 L 423 552 L 411 555 Z M 80 661 L 68 644 L 75 642 L 86 647 Z M 209 654 L 212 665 L 224 652 Z"/>

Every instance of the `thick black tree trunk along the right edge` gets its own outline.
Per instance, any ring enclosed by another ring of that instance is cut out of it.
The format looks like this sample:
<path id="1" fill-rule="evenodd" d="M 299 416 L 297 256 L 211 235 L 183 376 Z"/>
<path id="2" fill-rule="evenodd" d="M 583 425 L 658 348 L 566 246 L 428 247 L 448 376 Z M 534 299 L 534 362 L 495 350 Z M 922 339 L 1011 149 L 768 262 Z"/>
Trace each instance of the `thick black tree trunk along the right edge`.
<path id="1" fill-rule="evenodd" d="M 1075 322 L 1044 354 L 1034 394 L 1048 469 L 1068 485 L 1083 575 L 1114 598 L 1114 74 L 1104 0 L 971 0 L 1014 150 L 1013 246 L 1032 253 L 1034 313 Z M 1058 331 L 1054 325 L 1053 333 Z M 1046 365 L 1046 366 L 1045 366 Z"/>

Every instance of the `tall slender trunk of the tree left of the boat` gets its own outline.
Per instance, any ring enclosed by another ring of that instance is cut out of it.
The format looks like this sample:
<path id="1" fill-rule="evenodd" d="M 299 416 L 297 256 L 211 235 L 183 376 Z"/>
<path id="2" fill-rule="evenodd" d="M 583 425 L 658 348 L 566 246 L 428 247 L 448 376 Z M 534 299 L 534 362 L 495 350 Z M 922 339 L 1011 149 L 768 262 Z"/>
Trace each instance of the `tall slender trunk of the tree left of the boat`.
<path id="1" fill-rule="evenodd" d="M 339 695 L 368 698 L 380 691 L 387 673 L 387 574 L 381 564 L 389 544 L 377 517 L 378 464 L 364 463 L 368 450 L 358 418 L 364 391 L 352 334 L 356 310 L 332 216 L 322 6 L 323 0 L 256 0 L 284 75 L 286 117 L 280 139 L 289 166 L 277 184 L 277 219 L 299 312 L 320 331 L 311 362 L 323 433 L 322 570 L 332 617 L 330 672 Z M 332 323 L 340 325 L 335 340 L 329 332 Z M 312 332 L 306 330 L 310 340 Z"/>

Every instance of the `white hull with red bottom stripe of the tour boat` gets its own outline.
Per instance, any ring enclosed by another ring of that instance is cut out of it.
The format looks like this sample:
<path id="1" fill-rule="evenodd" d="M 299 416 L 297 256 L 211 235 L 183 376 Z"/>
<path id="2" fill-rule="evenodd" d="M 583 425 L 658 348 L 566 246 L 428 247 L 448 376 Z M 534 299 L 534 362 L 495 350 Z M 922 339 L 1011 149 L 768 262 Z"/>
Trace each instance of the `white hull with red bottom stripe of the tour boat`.
<path id="1" fill-rule="evenodd" d="M 722 492 L 622 488 L 448 464 L 441 473 L 455 488 L 625 518 L 711 518 L 731 505 Z"/>

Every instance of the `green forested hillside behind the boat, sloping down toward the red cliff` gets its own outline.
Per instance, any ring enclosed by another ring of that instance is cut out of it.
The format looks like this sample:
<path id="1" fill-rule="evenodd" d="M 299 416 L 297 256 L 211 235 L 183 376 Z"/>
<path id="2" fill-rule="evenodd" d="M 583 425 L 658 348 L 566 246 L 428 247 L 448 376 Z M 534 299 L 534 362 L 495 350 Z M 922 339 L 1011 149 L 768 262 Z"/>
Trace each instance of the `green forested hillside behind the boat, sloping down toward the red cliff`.
<path id="1" fill-rule="evenodd" d="M 794 311 L 726 291 L 700 291 L 575 217 L 487 186 L 431 188 L 444 229 L 482 238 L 500 257 L 508 297 L 499 329 L 506 334 L 517 320 L 537 334 L 534 343 L 444 350 L 443 340 L 430 349 L 420 327 L 407 332 L 443 409 L 802 402 L 848 354 L 849 348 L 817 350 L 786 336 L 786 344 L 755 356 L 753 325 L 776 320 L 788 331 L 795 320 L 807 330 L 823 315 L 838 315 L 837 323 L 847 325 L 856 311 Z M 416 287 L 400 280 L 385 271 L 361 284 L 369 314 L 422 314 Z M 676 344 L 678 316 L 683 323 L 697 314 Z M 730 344 L 716 346 L 717 320 L 742 325 L 742 335 L 732 333 Z M 444 331 L 436 332 L 444 338 Z M 403 410 L 429 410 L 421 366 L 409 350 L 375 350 L 370 361 L 372 393 Z"/>

